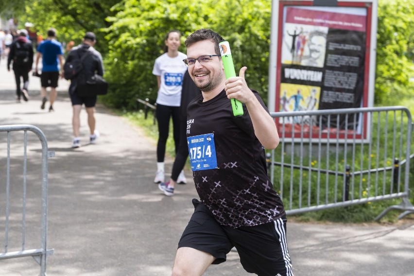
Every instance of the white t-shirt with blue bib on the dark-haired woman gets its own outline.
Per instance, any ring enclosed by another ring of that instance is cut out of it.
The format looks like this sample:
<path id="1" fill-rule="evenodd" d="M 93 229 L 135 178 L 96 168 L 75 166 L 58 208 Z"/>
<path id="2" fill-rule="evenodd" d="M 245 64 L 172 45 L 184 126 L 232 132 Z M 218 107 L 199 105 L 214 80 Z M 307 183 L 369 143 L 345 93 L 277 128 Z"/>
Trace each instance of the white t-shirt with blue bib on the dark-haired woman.
<path id="1" fill-rule="evenodd" d="M 176 57 L 169 57 L 167 53 L 155 59 L 153 74 L 161 77 L 161 83 L 156 98 L 157 104 L 180 106 L 181 88 L 187 66 L 183 59 L 187 55 L 178 52 Z"/>

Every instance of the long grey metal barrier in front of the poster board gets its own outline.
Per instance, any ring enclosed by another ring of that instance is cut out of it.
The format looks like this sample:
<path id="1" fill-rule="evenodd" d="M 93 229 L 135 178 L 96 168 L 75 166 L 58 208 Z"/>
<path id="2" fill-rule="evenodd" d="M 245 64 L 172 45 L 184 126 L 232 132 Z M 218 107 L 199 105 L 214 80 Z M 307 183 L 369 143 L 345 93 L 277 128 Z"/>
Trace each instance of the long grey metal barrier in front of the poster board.
<path id="1" fill-rule="evenodd" d="M 412 118 L 406 107 L 271 116 L 280 143 L 270 156 L 270 176 L 288 214 L 394 198 L 401 204 L 376 220 L 391 209 L 404 211 L 398 218 L 414 212 L 409 201 Z"/>

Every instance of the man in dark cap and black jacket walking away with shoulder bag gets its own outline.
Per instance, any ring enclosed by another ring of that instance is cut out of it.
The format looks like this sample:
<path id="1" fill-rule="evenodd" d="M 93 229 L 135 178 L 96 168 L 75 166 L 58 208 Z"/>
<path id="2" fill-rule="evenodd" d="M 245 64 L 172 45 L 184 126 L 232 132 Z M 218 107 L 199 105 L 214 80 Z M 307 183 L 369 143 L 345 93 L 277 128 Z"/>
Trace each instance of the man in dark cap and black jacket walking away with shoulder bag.
<path id="1" fill-rule="evenodd" d="M 72 128 L 73 128 L 73 140 L 72 148 L 81 147 L 80 138 L 80 114 L 82 105 L 85 104 L 87 113 L 87 122 L 89 126 L 89 143 L 95 144 L 96 139 L 99 137 L 99 132 L 95 129 L 95 104 L 98 96 L 87 96 L 82 97 L 76 93 L 76 87 L 79 82 L 91 77 L 95 72 L 103 76 L 104 75 L 104 63 L 102 61 L 102 55 L 93 46 L 96 43 L 96 36 L 92 32 L 87 32 L 82 40 L 82 44 L 76 46 L 70 50 L 66 62 L 82 62 L 83 69 L 74 78 L 70 80 L 69 96 L 72 103 L 73 117 L 72 117 Z M 82 56 L 85 55 L 82 61 Z M 62 67 L 63 68 L 63 67 Z M 63 70 L 63 69 L 62 69 Z M 62 72 L 63 74 L 63 72 Z"/>

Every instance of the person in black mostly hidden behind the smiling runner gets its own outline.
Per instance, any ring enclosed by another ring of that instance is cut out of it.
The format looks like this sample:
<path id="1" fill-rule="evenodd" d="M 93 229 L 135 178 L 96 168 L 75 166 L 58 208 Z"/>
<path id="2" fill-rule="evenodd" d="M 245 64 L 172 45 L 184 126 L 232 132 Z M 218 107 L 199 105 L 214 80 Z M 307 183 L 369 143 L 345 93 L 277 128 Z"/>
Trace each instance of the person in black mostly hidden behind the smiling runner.
<path id="1" fill-rule="evenodd" d="M 195 86 L 190 77 L 189 71 L 186 70 L 183 77 L 180 102 L 180 141 L 178 143 L 177 154 L 173 163 L 170 181 L 158 184 L 158 188 L 165 195 L 173 196 L 175 184 L 187 184 L 187 179 L 183 175 L 183 168 L 189 156 L 189 147 L 187 145 L 187 106 L 196 96 L 201 94 L 201 90 Z M 184 176 L 184 177 L 183 177 Z"/>

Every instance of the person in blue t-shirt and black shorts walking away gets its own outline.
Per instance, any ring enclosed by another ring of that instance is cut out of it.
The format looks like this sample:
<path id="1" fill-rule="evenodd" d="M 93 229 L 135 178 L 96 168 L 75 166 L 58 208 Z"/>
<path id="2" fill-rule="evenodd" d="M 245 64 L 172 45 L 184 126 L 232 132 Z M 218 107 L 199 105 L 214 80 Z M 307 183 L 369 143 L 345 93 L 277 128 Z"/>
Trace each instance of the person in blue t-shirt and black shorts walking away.
<path id="1" fill-rule="evenodd" d="M 46 88 L 51 87 L 49 107 L 49 112 L 51 112 L 53 111 L 53 103 L 57 96 L 56 87 L 59 80 L 59 67 L 63 65 L 62 44 L 56 40 L 56 30 L 54 28 L 49 29 L 47 39 L 40 42 L 39 46 L 37 46 L 35 72 L 37 72 L 40 57 L 42 58 L 42 74 L 40 76 L 42 105 L 40 108 L 45 109 L 45 104 L 48 101 Z"/>

